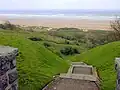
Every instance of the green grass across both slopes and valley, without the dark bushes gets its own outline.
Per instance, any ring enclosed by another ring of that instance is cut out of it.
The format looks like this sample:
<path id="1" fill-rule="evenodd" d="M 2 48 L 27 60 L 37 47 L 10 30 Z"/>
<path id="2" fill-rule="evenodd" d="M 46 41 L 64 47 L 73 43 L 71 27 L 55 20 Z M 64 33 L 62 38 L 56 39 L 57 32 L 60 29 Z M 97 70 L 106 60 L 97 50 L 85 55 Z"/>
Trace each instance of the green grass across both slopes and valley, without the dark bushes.
<path id="1" fill-rule="evenodd" d="M 99 40 L 101 35 L 107 32 L 91 31 L 95 39 Z M 64 32 L 59 31 L 58 34 L 70 35 L 71 37 L 85 34 L 84 32 Z M 96 37 L 97 35 L 101 34 Z M 104 35 L 104 36 L 105 36 Z M 40 37 L 43 41 L 31 41 L 29 37 Z M 81 38 L 77 38 L 81 39 Z M 48 83 L 53 75 L 67 71 L 68 62 L 84 61 L 97 67 L 102 90 L 113 90 L 116 83 L 116 72 L 114 71 L 114 59 L 120 55 L 120 42 L 113 42 L 103 46 L 98 46 L 89 51 L 86 43 L 76 45 L 76 40 L 68 40 L 70 44 L 65 44 L 65 39 L 58 36 L 51 36 L 47 32 L 27 32 L 27 31 L 11 31 L 0 30 L 0 45 L 12 46 L 19 49 L 17 57 L 17 69 L 19 73 L 19 90 L 40 90 Z M 47 42 L 51 45 L 48 49 L 43 43 Z M 84 52 L 77 56 L 66 56 L 60 58 L 56 52 L 65 46 L 78 48 L 80 52 Z"/>

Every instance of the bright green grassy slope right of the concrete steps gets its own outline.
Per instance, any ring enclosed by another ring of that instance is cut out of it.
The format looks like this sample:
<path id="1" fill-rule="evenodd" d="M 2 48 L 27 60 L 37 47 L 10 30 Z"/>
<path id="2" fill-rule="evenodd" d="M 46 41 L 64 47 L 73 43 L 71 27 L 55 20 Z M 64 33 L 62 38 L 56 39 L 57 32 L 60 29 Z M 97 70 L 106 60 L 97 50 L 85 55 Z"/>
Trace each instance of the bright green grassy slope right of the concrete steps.
<path id="1" fill-rule="evenodd" d="M 102 79 L 102 90 L 114 90 L 116 72 L 114 59 L 120 56 L 120 42 L 113 42 L 96 47 L 73 58 L 73 61 L 84 61 L 99 70 Z"/>

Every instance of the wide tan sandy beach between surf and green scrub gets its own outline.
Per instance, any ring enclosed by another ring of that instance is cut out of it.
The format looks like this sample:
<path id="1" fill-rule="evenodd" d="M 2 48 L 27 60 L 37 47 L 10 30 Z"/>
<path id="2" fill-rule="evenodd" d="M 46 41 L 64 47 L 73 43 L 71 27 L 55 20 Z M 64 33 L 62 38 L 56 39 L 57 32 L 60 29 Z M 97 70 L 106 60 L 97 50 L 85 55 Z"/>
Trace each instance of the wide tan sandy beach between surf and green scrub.
<path id="1" fill-rule="evenodd" d="M 45 26 L 53 28 L 72 27 L 92 30 L 111 30 L 110 20 L 65 19 L 65 18 L 8 18 L 0 16 L 0 21 L 9 20 L 12 24 Z"/>

